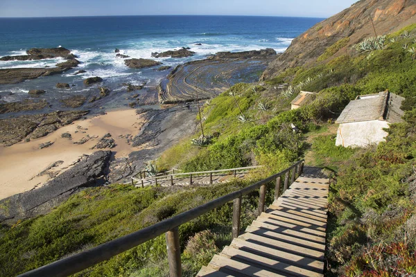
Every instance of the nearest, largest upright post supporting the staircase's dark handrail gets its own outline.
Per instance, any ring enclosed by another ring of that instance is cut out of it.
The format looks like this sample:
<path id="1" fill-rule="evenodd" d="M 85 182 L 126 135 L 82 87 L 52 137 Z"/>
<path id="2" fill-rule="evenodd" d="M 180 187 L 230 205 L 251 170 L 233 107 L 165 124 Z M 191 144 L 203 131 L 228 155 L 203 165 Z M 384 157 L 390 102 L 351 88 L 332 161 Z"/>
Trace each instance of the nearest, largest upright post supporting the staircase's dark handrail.
<path id="1" fill-rule="evenodd" d="M 169 275 L 171 277 L 182 276 L 179 231 L 177 227 L 166 232 L 166 247 L 168 249 Z"/>

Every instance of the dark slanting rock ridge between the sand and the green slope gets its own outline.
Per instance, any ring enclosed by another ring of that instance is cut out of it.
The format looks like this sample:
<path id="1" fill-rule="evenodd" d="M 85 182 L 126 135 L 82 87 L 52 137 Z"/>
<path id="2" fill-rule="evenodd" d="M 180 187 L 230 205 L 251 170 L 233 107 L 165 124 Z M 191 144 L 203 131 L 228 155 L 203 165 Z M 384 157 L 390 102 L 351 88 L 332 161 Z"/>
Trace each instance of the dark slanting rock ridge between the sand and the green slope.
<path id="1" fill-rule="evenodd" d="M 110 157 L 110 151 L 94 152 L 45 186 L 0 200 L 0 222 L 42 215 L 83 188 L 103 185 Z"/>

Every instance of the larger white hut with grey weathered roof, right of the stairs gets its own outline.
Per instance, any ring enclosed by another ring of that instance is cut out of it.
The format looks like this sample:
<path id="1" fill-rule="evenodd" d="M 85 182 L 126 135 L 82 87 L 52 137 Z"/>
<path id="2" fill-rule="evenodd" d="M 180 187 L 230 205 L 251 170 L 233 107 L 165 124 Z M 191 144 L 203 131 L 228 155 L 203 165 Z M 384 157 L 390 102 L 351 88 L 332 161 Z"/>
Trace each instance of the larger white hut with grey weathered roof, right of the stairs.
<path id="1" fill-rule="evenodd" d="M 391 123 L 399 123 L 404 111 L 403 97 L 389 91 L 357 96 L 336 120 L 339 123 L 336 145 L 365 147 L 384 141 Z"/>

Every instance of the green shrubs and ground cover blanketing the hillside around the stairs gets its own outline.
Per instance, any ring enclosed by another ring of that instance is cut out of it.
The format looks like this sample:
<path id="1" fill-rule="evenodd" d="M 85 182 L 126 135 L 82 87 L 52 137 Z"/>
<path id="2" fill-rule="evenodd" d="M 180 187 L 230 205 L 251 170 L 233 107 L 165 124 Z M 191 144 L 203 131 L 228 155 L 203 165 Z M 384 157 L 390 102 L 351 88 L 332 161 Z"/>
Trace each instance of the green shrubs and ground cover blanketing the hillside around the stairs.
<path id="1" fill-rule="evenodd" d="M 329 47 L 320 61 L 286 69 L 265 86 L 236 84 L 203 107 L 202 125 L 211 136 L 209 145 L 191 145 L 200 133 L 184 138 L 162 154 L 158 168 L 190 172 L 262 164 L 260 178 L 306 157 L 309 165 L 327 168 L 332 177 L 326 275 L 416 274 L 416 62 L 409 51 L 416 48 L 415 28 L 413 24 L 389 35 L 378 50 L 349 49 L 331 60 L 348 44 L 343 39 Z M 284 82 L 293 91 L 281 93 L 273 88 Z M 315 99 L 289 110 L 300 89 L 315 91 Z M 405 122 L 391 125 L 386 141 L 377 146 L 335 146 L 333 120 L 345 105 L 358 95 L 385 89 L 406 98 L 402 105 Z M 6 267 L 0 268 L 0 275 L 40 267 L 248 184 L 89 188 L 48 215 L 2 226 L 0 264 Z M 272 190 L 268 192 L 270 201 Z M 254 195 L 243 198 L 243 227 L 256 215 Z M 180 227 L 184 276 L 195 274 L 229 243 L 231 211 L 227 204 Z M 79 275 L 166 276 L 165 257 L 161 236 Z"/>

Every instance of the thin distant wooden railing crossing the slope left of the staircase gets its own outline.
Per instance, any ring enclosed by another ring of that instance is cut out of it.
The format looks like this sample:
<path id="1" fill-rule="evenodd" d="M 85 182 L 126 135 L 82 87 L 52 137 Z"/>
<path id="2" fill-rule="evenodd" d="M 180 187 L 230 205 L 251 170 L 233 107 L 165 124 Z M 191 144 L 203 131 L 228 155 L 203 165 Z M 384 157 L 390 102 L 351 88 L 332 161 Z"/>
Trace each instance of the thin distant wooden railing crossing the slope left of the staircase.
<path id="1" fill-rule="evenodd" d="M 200 172 L 185 172 L 185 173 L 175 173 L 175 170 L 173 170 L 173 174 L 171 175 L 155 175 L 152 177 L 146 177 L 138 179 L 137 177 L 131 177 L 132 178 L 132 185 L 135 184 L 135 181 L 138 184 L 141 184 L 141 187 L 143 188 L 145 186 L 146 182 L 151 182 L 152 184 L 155 184 L 157 186 L 158 181 L 171 181 L 171 186 L 175 184 L 175 177 L 182 177 L 182 178 L 176 178 L 176 179 L 184 179 L 189 178 L 189 184 L 193 184 L 193 177 L 197 177 L 200 175 L 209 175 L 209 184 L 212 184 L 212 177 L 215 175 L 215 173 L 223 173 L 223 172 L 229 172 L 229 175 L 234 175 L 236 177 L 237 172 L 245 171 L 249 169 L 254 168 L 261 168 L 261 166 L 248 166 L 245 168 L 229 168 L 229 169 L 221 169 L 221 170 L 210 170 L 210 171 L 200 171 Z M 170 172 L 172 170 L 166 171 Z M 135 175 L 137 176 L 137 175 Z"/>

